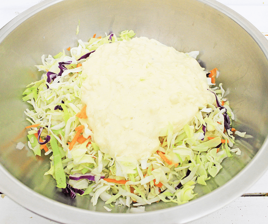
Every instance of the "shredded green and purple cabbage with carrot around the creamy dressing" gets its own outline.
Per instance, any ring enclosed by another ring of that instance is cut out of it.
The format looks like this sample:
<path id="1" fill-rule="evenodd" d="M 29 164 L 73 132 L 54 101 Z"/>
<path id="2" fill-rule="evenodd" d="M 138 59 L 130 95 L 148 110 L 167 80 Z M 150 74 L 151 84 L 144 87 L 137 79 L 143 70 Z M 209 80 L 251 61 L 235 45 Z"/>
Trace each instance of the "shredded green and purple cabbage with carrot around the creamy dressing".
<path id="1" fill-rule="evenodd" d="M 239 148 L 233 147 L 233 133 L 243 137 L 245 132 L 231 128 L 234 114 L 223 98 L 222 84 L 214 87 L 212 83 L 219 74 L 214 69 L 208 72 L 207 80 L 216 105 L 200 109 L 180 132 L 174 133 L 169 124 L 167 135 L 159 137 L 161 147 L 149 159 L 138 163 L 129 157 L 115 161 L 102 153 L 93 141 L 94 133 L 81 117 L 81 85 L 86 78 L 81 64 L 100 45 L 128 41 L 134 35 L 132 30 L 126 30 L 119 37 L 94 36 L 89 42 L 78 40 L 78 47 L 70 48 L 70 56 L 64 50 L 54 57 L 42 56 L 43 65 L 36 66 L 44 72 L 41 80 L 29 84 L 23 92 L 23 100 L 33 106 L 25 111 L 32 124 L 27 127 L 28 146 L 35 155 L 40 156 L 41 150 L 50 155 L 51 167 L 44 175 L 52 175 L 57 187 L 72 198 L 89 194 L 93 205 L 98 198 L 105 204 L 125 206 L 160 200 L 182 204 L 196 195 L 195 184 L 206 185 L 217 175 L 224 158 L 241 154 Z M 196 58 L 198 51 L 186 54 Z"/>

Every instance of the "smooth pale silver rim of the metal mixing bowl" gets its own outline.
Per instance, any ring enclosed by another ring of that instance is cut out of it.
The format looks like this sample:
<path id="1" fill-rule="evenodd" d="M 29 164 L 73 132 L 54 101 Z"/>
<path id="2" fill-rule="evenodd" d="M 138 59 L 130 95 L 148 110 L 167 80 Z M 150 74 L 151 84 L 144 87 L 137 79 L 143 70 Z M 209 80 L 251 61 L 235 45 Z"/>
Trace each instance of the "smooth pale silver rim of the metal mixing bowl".
<path id="1" fill-rule="evenodd" d="M 22 22 L 33 16 L 34 14 L 42 11 L 43 9 L 52 6 L 56 3 L 59 3 L 64 0 L 45 0 L 33 7 L 27 9 L 23 13 L 16 16 L 13 20 L 11 20 L 8 24 L 6 24 L 0 30 L 0 43 Z M 243 18 L 241 15 L 228 8 L 227 6 L 219 3 L 215 0 L 195 0 L 201 3 L 204 3 L 221 13 L 225 14 L 234 22 L 239 24 L 259 45 L 260 49 L 263 51 L 266 59 L 268 58 L 268 42 L 266 38 L 261 34 L 255 26 L 253 26 L 249 21 Z M 20 204 L 21 206 L 37 213 L 43 217 L 47 217 L 49 219 L 60 221 L 64 223 L 83 223 L 86 221 L 86 218 L 83 218 L 84 214 L 87 217 L 90 217 L 91 221 L 96 221 L 100 223 L 101 221 L 104 223 L 107 221 L 107 218 L 110 219 L 111 223 L 116 223 L 118 218 L 121 219 L 122 223 L 128 223 L 129 219 L 135 218 L 137 223 L 143 223 L 146 220 L 151 220 L 152 222 L 157 223 L 167 223 L 167 217 L 175 217 L 173 218 L 173 222 L 176 221 L 176 212 L 180 211 L 180 214 L 184 214 L 189 208 L 193 211 L 193 215 L 191 217 L 181 217 L 180 223 L 186 223 L 195 219 L 198 219 L 202 216 L 208 215 L 219 208 L 225 206 L 226 204 L 232 202 L 235 198 L 240 196 L 247 190 L 250 186 L 252 186 L 268 169 L 268 165 L 265 165 L 266 159 L 268 157 L 268 138 L 265 139 L 263 145 L 261 146 L 258 153 L 254 156 L 251 162 L 246 165 L 234 178 L 228 181 L 223 186 L 217 188 L 216 190 L 200 197 L 195 200 L 192 200 L 186 204 L 182 204 L 180 206 L 175 206 L 172 208 L 166 208 L 156 211 L 148 211 L 145 213 L 103 213 L 103 212 L 95 212 L 90 210 L 84 210 L 80 208 L 76 208 L 73 206 L 69 206 L 60 202 L 56 202 L 52 199 L 49 199 L 41 194 L 34 192 L 31 188 L 27 187 L 15 177 L 13 177 L 1 164 L 0 164 L 0 179 L 1 181 L 1 190 L 7 194 L 12 200 Z M 256 174 L 254 171 L 259 171 Z M 252 173 L 252 175 L 251 175 Z M 236 183 L 241 182 L 250 182 L 250 185 L 244 185 L 243 187 L 239 187 L 239 189 L 235 188 Z M 13 186 L 10 188 L 10 186 Z M 234 191 L 236 189 L 236 191 Z M 22 193 L 23 192 L 23 193 Z M 228 194 L 227 194 L 228 192 Z M 223 200 L 215 200 L 219 198 Z M 29 200 L 31 198 L 31 200 Z M 32 203 L 33 202 L 33 203 Z M 200 203 L 202 204 L 213 204 L 213 208 L 206 209 L 200 208 Z M 38 206 L 39 205 L 39 206 Z M 47 208 L 47 209 L 44 209 Z M 51 211 L 58 210 L 61 213 L 61 216 L 57 214 L 51 213 Z M 175 215 L 174 215 L 175 214 Z M 182 215 L 183 216 L 183 215 Z M 171 220 L 171 219 L 170 219 Z"/>

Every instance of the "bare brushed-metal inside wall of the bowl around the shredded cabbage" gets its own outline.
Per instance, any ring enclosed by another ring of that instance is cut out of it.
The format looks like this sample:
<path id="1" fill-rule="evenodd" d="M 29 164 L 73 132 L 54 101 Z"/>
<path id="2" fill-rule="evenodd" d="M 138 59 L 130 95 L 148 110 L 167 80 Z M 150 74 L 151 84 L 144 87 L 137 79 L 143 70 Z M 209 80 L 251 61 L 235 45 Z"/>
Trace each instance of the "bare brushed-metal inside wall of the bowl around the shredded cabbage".
<path id="1" fill-rule="evenodd" d="M 264 53 L 260 48 L 265 38 L 261 39 L 257 29 L 250 24 L 243 27 L 235 17 L 226 15 L 226 7 L 221 11 L 217 7 L 223 5 L 205 0 L 44 1 L 15 18 L 13 23 L 18 26 L 12 31 L 1 32 L 4 37 L 0 43 L 1 165 L 13 177 L 47 198 L 85 210 L 107 212 L 101 201 L 93 207 L 90 196 L 77 196 L 75 200 L 65 197 L 55 187 L 52 177 L 43 176 L 50 167 L 49 156 L 34 156 L 27 147 L 24 127 L 29 123 L 25 121 L 23 111 L 29 105 L 21 98 L 26 85 L 40 79 L 41 73 L 34 65 L 42 64 L 43 54 L 56 55 L 62 49 L 76 46 L 78 39 L 87 41 L 95 33 L 104 36 L 105 32 L 119 34 L 129 29 L 138 37 L 154 38 L 178 51 L 200 51 L 198 59 L 206 70 L 214 67 L 220 70 L 217 83 L 223 83 L 236 117 L 232 126 L 253 138 L 237 136 L 241 155 L 225 159 L 222 170 L 208 181 L 207 186 L 197 184 L 196 198 L 233 179 L 251 162 L 267 136 L 268 62 L 266 50 Z M 78 20 L 80 28 L 76 35 Z M 17 150 L 17 142 L 25 143 L 25 148 Z M 173 206 L 176 204 L 155 203 L 146 206 L 145 210 Z M 112 210 L 114 213 L 127 211 L 123 206 Z"/>

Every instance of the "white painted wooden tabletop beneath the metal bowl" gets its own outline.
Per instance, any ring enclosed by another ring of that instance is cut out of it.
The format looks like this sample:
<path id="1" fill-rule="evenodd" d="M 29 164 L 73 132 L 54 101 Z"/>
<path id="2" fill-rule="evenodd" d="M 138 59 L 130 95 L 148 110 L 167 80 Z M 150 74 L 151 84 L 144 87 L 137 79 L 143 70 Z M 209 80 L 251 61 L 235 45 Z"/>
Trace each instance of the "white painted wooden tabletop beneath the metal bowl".
<path id="1" fill-rule="evenodd" d="M 268 34 L 268 0 L 218 0 Z M 1 0 L 0 28 L 40 0 Z M 266 36 L 267 37 L 267 36 Z M 1 180 L 0 180 L 1 182 Z M 1 183 L 0 183 L 1 185 Z M 0 188 L 1 191 L 1 188 Z M 268 192 L 268 171 L 245 193 Z M 19 206 L 7 196 L 0 197 L 0 224 L 56 224 Z M 239 197 L 220 210 L 189 224 L 268 223 L 268 197 Z"/>

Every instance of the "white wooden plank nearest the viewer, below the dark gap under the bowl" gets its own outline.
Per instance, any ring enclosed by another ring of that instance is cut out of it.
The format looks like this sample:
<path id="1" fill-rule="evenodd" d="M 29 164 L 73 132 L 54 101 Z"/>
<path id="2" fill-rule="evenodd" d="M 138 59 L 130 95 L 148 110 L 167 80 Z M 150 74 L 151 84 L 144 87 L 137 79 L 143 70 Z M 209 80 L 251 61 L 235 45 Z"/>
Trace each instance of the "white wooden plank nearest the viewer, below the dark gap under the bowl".
<path id="1" fill-rule="evenodd" d="M 1 224 L 57 224 L 19 206 L 10 198 L 0 198 Z M 239 197 L 224 208 L 189 224 L 268 223 L 268 197 Z"/>

